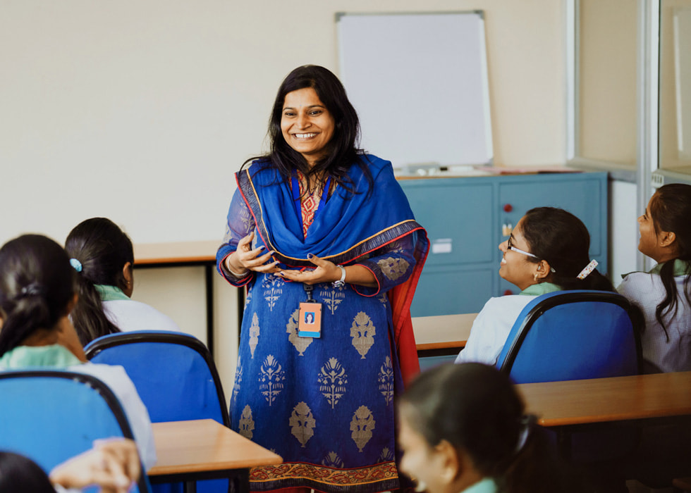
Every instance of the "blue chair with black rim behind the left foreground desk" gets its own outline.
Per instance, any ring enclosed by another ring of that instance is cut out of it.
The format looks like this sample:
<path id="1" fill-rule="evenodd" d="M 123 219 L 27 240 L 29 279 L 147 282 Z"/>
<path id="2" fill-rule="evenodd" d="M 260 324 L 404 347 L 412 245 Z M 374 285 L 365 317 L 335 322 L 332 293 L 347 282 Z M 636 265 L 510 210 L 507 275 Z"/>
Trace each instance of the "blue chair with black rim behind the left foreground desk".
<path id="1" fill-rule="evenodd" d="M 123 366 L 153 423 L 211 418 L 230 428 L 228 407 L 216 365 L 202 342 L 181 332 L 120 332 L 85 347 L 93 363 Z M 179 484 L 154 485 L 154 492 Z M 200 492 L 227 492 L 228 480 L 197 482 Z"/>

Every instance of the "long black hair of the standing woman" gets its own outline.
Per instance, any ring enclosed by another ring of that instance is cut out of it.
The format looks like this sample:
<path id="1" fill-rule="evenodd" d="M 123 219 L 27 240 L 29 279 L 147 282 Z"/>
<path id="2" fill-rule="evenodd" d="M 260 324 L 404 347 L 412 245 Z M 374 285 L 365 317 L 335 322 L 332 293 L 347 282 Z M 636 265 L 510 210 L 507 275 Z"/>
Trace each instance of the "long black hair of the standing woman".
<path id="1" fill-rule="evenodd" d="M 281 116 L 286 94 L 311 87 L 317 92 L 317 96 L 324 103 L 326 109 L 334 118 L 334 137 L 326 144 L 326 154 L 319 159 L 314 167 L 310 168 L 298 151 L 295 151 L 281 131 Z M 283 180 L 290 180 L 293 170 L 309 177 L 310 175 L 329 175 L 333 180 L 350 192 L 353 192 L 355 184 L 348 176 L 350 166 L 360 166 L 367 178 L 368 190 L 372 192 L 374 180 L 364 159 L 364 152 L 360 145 L 360 121 L 357 112 L 345 94 L 345 88 L 338 77 L 319 65 L 302 65 L 295 68 L 283 80 L 276 94 L 274 107 L 269 118 L 269 140 L 271 147 L 269 154 L 247 159 L 243 166 L 255 159 L 266 161 L 276 170 Z"/>

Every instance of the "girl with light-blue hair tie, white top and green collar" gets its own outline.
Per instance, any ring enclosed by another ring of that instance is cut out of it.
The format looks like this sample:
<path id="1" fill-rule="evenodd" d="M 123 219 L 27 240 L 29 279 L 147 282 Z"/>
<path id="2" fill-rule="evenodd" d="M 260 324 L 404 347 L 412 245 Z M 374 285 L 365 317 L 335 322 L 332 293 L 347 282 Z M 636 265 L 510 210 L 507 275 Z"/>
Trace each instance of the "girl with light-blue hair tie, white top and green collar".
<path id="1" fill-rule="evenodd" d="M 79 273 L 79 300 L 71 317 L 82 345 L 114 332 L 180 331 L 168 316 L 130 299 L 134 285 L 132 242 L 111 220 L 82 221 L 68 235 L 65 249 Z"/>

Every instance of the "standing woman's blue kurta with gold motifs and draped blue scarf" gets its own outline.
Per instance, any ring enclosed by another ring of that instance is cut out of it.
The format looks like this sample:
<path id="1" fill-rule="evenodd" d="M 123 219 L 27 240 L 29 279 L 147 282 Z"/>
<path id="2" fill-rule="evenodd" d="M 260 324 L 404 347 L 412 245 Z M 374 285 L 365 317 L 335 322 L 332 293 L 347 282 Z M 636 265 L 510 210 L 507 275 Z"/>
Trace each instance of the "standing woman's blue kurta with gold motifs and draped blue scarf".
<path id="1" fill-rule="evenodd" d="M 337 187 L 324 211 L 317 211 L 307 237 L 295 227 L 294 238 L 288 241 L 285 237 L 291 235 L 286 231 L 293 227 L 293 218 L 277 217 L 297 213 L 292 207 L 277 211 L 276 195 L 290 196 L 290 184 L 274 180 L 262 187 L 256 176 L 249 183 L 238 173 L 239 189 L 228 212 L 219 268 L 239 239 L 256 228 L 257 246 L 276 250 L 276 259 L 286 266 L 312 265 L 306 259 L 309 252 L 343 265 L 365 266 L 379 284 L 376 288 L 314 285 L 312 296 L 322 304 L 322 335 L 298 337 L 298 308 L 307 301 L 301 283 L 261 273 L 238 279 L 221 268 L 234 285 L 247 283 L 231 423 L 234 430 L 284 461 L 281 466 L 253 469 L 252 491 L 303 486 L 322 492 L 375 492 L 399 486 L 393 397 L 402 380 L 386 292 L 419 273 L 427 239 L 412 220 L 391 164 L 374 156 L 369 160 L 375 178 L 372 197 L 377 199 L 355 195 L 356 201 L 369 206 L 352 207 L 352 196 Z M 351 172 L 358 177 L 359 170 Z M 266 199 L 264 193 L 272 196 Z M 403 209 L 381 211 L 381 216 L 391 216 L 388 222 L 393 227 L 377 225 L 376 219 L 362 225 L 365 216 L 348 218 L 343 213 L 350 208 L 376 214 L 377 204 Z M 353 238 L 334 237 L 329 220 L 350 221 L 361 231 Z M 267 224 L 281 227 L 271 230 Z"/>

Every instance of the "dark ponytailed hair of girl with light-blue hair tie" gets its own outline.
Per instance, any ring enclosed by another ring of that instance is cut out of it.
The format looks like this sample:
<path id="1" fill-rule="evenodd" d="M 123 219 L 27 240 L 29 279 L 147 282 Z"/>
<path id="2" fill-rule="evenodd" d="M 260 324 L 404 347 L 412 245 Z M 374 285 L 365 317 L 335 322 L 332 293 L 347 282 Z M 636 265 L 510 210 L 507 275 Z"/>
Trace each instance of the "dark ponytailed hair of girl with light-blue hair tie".
<path id="1" fill-rule="evenodd" d="M 70 258 L 81 263 L 78 273 L 79 300 L 72 311 L 72 323 L 86 346 L 93 339 L 121 332 L 103 311 L 101 296 L 94 285 L 126 289 L 126 263 L 134 264 L 132 241 L 113 221 L 91 218 L 82 221 L 65 241 Z"/>

